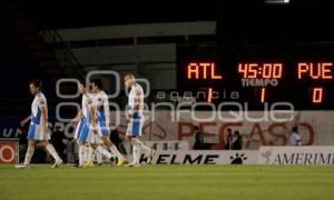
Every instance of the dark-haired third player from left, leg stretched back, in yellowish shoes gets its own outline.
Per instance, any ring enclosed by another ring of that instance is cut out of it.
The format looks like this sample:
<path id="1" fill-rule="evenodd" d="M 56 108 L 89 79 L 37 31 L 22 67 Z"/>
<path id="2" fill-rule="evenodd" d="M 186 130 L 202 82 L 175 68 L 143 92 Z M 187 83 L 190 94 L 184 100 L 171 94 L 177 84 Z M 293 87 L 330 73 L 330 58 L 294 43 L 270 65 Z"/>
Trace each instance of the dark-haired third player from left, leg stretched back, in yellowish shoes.
<path id="1" fill-rule="evenodd" d="M 91 80 L 91 88 L 92 91 L 96 93 L 95 97 L 95 111 L 96 111 L 96 118 L 97 118 L 97 129 L 94 128 L 94 133 L 98 134 L 102 142 L 107 146 L 107 148 L 114 153 L 117 159 L 117 166 L 122 166 L 126 160 L 120 154 L 116 146 L 109 140 L 109 102 L 108 102 L 108 96 L 102 90 L 102 81 L 100 79 Z M 102 154 L 106 154 L 108 159 L 111 159 L 111 153 L 108 154 L 107 150 L 105 150 L 101 146 L 97 147 L 97 151 L 101 152 Z"/>

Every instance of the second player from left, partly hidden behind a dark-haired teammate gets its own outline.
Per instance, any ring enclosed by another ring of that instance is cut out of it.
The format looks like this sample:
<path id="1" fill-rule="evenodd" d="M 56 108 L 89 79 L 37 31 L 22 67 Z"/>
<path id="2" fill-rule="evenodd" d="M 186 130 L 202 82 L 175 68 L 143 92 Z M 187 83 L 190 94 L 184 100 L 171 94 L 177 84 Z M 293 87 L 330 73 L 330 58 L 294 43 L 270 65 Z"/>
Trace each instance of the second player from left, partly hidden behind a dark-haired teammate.
<path id="1" fill-rule="evenodd" d="M 78 168 L 84 168 L 84 162 L 87 161 L 87 153 L 89 152 L 88 141 L 91 137 L 90 126 L 95 127 L 96 122 L 91 118 L 91 116 L 94 114 L 94 110 L 92 110 L 94 97 L 88 92 L 88 89 L 85 87 L 84 82 L 78 83 L 78 89 L 82 94 L 81 110 L 72 121 L 73 122 L 80 121 L 80 123 L 76 129 L 77 140 L 79 143 Z"/>

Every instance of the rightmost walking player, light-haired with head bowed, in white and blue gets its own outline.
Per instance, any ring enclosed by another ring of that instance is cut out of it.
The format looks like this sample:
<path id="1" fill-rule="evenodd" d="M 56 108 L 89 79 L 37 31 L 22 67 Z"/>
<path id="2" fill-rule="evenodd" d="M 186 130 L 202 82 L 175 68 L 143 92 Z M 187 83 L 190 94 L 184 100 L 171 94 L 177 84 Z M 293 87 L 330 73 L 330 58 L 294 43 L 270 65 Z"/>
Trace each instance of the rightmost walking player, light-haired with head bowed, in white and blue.
<path id="1" fill-rule="evenodd" d="M 145 153 L 147 163 L 150 163 L 154 154 L 153 150 L 138 139 L 138 137 L 141 136 L 141 128 L 144 123 L 144 91 L 136 82 L 135 76 L 131 73 L 125 76 L 125 84 L 130 89 L 129 101 L 126 109 L 126 119 L 128 122 L 126 139 L 132 144 L 134 156 L 134 161 L 127 166 L 140 167 L 140 150 Z"/>

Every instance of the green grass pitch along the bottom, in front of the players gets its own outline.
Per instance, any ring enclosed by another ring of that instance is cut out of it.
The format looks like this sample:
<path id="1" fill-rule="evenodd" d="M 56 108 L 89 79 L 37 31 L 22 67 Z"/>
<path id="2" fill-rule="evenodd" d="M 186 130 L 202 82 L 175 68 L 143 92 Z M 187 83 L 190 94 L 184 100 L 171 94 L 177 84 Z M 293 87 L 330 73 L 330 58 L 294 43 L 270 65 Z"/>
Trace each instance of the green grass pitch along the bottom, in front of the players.
<path id="1" fill-rule="evenodd" d="M 0 166 L 0 200 L 334 199 L 333 167 L 50 167 Z"/>

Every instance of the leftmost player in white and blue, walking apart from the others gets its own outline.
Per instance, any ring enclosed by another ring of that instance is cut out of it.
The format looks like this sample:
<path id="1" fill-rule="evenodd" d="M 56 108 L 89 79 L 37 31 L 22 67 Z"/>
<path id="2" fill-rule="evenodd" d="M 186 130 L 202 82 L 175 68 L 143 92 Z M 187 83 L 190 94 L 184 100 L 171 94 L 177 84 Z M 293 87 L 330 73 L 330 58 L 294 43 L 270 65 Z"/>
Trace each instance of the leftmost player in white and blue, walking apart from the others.
<path id="1" fill-rule="evenodd" d="M 41 92 L 41 82 L 39 80 L 32 80 L 29 87 L 31 94 L 35 96 L 31 103 L 31 116 L 21 121 L 22 127 L 31 121 L 28 131 L 28 149 L 23 164 L 16 167 L 18 169 L 28 168 L 33 156 L 36 141 L 41 141 L 42 147 L 45 147 L 55 159 L 52 168 L 58 168 L 62 163 L 62 160 L 59 158 L 53 146 L 49 143 L 48 104 L 45 94 Z"/>

